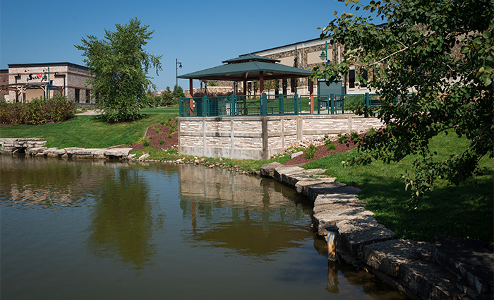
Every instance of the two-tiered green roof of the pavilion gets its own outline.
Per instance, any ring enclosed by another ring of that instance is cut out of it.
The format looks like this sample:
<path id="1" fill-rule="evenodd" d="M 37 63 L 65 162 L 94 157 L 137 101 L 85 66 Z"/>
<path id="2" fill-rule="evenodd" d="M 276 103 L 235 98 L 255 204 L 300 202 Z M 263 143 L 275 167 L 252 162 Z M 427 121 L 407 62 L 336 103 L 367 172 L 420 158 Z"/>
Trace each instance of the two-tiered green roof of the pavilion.
<path id="1" fill-rule="evenodd" d="M 222 61 L 222 66 L 207 68 L 202 71 L 184 74 L 178 78 L 192 78 L 201 80 L 259 80 L 259 72 L 263 71 L 264 80 L 282 78 L 308 77 L 311 71 L 277 64 L 279 60 L 268 59 L 253 54 L 241 55 L 235 59 Z"/>

